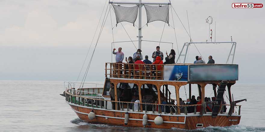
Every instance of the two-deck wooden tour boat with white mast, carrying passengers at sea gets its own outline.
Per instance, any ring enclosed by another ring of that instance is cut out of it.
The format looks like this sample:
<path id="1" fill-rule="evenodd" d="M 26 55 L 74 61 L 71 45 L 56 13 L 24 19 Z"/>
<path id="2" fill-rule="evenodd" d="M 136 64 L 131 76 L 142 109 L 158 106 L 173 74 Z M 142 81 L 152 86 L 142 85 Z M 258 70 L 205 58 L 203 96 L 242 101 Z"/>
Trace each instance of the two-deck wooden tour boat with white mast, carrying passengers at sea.
<path id="1" fill-rule="evenodd" d="M 109 3 L 109 10 L 112 9 L 111 6 L 118 4 L 117 7 L 114 7 L 116 19 L 120 4 L 136 4 L 138 6 L 136 9 L 139 10 L 139 27 L 142 27 L 140 21 L 143 5 L 159 5 L 157 7 L 171 5 L 171 3 L 143 3 L 141 0 L 139 2 Z M 139 29 L 138 36 L 139 49 L 141 49 L 143 41 L 141 30 Z M 226 64 L 185 63 L 191 44 L 209 43 L 232 44 Z M 232 99 L 231 86 L 238 80 L 238 65 L 233 64 L 235 46 L 236 42 L 188 42 L 183 45 L 176 61 L 178 62 L 183 56 L 183 63 L 176 64 L 105 63 L 103 87 L 85 88 L 84 80 L 79 84 L 79 88 L 76 87 L 78 82 L 65 82 L 65 100 L 81 120 L 89 123 L 162 129 L 197 129 L 208 126 L 238 125 L 241 118 L 241 105 L 237 105 L 237 103 L 246 101 L 246 99 L 239 101 Z M 232 56 L 232 64 L 228 64 L 230 56 Z M 139 70 L 136 70 L 136 66 L 139 67 Z M 111 100 L 109 93 L 112 83 L 114 84 L 115 100 Z M 196 84 L 202 103 L 181 104 L 180 87 L 189 87 L 189 99 L 191 99 L 192 84 Z M 204 100 L 206 85 L 213 87 L 215 99 L 213 102 Z M 228 91 L 229 104 L 223 103 L 225 91 Z M 127 94 L 128 98 L 119 97 L 120 92 L 129 93 L 129 95 Z M 172 96 L 172 94 L 176 96 Z M 139 103 L 130 102 L 133 96 L 139 96 Z M 147 103 L 148 99 L 149 101 L 156 100 L 157 103 Z M 164 102 L 167 103 L 162 104 L 161 99 L 165 99 Z M 176 101 L 176 104 L 169 104 L 171 100 Z M 208 112 L 208 104 L 213 106 L 212 112 Z M 239 107 L 237 112 L 236 106 Z M 226 108 L 229 108 L 227 112 L 225 112 Z"/>

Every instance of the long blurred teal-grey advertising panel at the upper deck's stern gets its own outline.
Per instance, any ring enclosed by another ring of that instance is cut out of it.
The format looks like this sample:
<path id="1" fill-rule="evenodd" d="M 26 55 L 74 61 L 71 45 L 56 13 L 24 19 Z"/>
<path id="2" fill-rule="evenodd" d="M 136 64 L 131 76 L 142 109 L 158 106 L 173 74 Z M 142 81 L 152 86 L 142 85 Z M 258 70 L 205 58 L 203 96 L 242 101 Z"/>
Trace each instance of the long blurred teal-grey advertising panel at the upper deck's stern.
<path id="1" fill-rule="evenodd" d="M 190 65 L 189 81 L 238 80 L 238 65 Z"/>

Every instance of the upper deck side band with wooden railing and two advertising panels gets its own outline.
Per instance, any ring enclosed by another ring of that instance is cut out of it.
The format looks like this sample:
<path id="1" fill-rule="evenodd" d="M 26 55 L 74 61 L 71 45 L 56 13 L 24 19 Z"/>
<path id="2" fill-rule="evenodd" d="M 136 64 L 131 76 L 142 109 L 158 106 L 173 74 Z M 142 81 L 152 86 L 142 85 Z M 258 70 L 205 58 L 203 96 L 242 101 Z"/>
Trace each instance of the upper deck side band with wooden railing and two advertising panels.
<path id="1" fill-rule="evenodd" d="M 237 64 L 105 64 L 105 77 L 128 80 L 236 81 L 238 73 Z"/>

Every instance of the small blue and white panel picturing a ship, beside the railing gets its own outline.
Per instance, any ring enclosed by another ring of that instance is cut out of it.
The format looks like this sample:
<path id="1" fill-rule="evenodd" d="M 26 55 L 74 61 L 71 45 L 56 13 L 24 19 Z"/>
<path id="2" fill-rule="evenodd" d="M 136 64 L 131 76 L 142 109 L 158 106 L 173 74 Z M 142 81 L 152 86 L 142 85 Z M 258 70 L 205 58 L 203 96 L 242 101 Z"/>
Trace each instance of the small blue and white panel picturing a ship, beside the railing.
<path id="1" fill-rule="evenodd" d="M 165 81 L 188 81 L 187 65 L 165 65 L 164 66 Z"/>

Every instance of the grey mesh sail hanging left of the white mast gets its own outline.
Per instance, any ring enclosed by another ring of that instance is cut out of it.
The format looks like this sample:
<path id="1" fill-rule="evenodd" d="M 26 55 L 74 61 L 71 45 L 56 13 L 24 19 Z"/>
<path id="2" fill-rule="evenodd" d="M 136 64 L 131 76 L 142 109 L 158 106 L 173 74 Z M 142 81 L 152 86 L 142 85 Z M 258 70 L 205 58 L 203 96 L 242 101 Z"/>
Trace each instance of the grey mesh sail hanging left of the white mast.
<path id="1" fill-rule="evenodd" d="M 134 24 L 138 14 L 138 6 L 139 5 L 134 7 L 122 7 L 112 4 L 116 15 L 116 22 L 126 21 Z"/>

